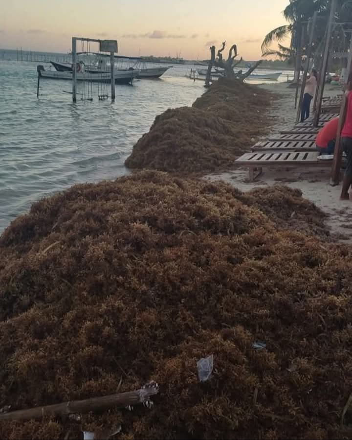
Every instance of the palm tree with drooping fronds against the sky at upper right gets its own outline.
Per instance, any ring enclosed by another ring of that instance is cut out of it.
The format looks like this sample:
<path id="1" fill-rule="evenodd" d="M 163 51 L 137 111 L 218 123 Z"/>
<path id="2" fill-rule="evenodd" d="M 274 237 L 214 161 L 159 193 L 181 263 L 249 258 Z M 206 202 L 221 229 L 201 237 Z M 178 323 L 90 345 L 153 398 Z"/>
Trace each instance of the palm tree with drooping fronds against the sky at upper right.
<path id="1" fill-rule="evenodd" d="M 348 0 L 350 1 L 350 0 Z M 352 0 L 351 0 L 352 2 Z M 299 71 L 302 62 L 302 33 L 304 32 L 305 23 L 313 16 L 315 11 L 322 12 L 327 8 L 329 0 L 289 0 L 289 5 L 283 11 L 283 15 L 288 24 L 277 27 L 270 31 L 264 38 L 262 44 L 263 56 L 266 55 L 279 55 L 283 51 L 276 51 L 270 49 L 270 45 L 276 41 L 278 43 L 282 42 L 288 37 L 291 37 L 289 49 L 292 51 L 288 53 L 287 51 L 282 54 L 288 55 L 290 58 L 293 53 L 297 56 L 297 65 L 294 81 L 298 81 Z M 282 49 L 284 46 L 279 46 Z M 288 49 L 288 48 L 287 48 Z M 279 55 L 280 56 L 280 55 Z"/>

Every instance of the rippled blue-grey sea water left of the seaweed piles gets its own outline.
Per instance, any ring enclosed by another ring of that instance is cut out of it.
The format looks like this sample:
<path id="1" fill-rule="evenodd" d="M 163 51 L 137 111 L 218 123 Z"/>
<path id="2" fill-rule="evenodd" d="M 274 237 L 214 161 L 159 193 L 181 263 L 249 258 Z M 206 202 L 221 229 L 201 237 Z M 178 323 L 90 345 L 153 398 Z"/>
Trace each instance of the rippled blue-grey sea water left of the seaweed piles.
<path id="1" fill-rule="evenodd" d="M 161 79 L 116 85 L 114 103 L 93 85 L 93 101 L 73 104 L 71 82 L 51 79 L 37 99 L 36 65 L 0 50 L 0 232 L 44 196 L 127 174 L 124 161 L 155 116 L 204 92 L 185 78 L 193 66 L 176 65 Z"/>

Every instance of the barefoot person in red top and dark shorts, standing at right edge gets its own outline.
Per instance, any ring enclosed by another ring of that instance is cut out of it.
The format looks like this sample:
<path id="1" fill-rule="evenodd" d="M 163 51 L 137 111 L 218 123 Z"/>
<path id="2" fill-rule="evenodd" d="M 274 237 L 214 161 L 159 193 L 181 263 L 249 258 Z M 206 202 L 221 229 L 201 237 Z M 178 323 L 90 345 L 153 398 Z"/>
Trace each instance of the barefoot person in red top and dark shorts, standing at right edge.
<path id="1" fill-rule="evenodd" d="M 347 164 L 342 183 L 341 200 L 350 200 L 349 190 L 352 185 L 352 74 L 348 78 L 348 90 L 345 93 L 346 107 L 342 116 L 341 142 L 346 153 Z M 347 108 L 347 110 L 346 110 Z"/>

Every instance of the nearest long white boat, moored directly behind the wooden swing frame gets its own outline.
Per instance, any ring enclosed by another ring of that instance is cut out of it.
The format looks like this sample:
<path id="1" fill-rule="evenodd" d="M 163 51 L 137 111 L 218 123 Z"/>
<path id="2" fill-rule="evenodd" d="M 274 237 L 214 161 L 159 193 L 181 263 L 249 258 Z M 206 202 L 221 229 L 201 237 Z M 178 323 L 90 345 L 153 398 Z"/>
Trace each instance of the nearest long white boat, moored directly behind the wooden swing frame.
<path id="1" fill-rule="evenodd" d="M 72 70 L 45 70 L 43 66 L 37 67 L 38 72 L 42 78 L 50 78 L 50 79 L 68 79 L 72 80 Z M 139 75 L 139 70 L 131 69 L 131 70 L 115 70 L 115 84 L 130 84 L 133 82 L 133 79 L 137 78 Z M 76 72 L 77 81 L 91 81 L 91 82 L 100 82 L 106 83 L 111 81 L 110 71 L 103 70 L 87 70 L 87 71 L 79 71 Z"/>

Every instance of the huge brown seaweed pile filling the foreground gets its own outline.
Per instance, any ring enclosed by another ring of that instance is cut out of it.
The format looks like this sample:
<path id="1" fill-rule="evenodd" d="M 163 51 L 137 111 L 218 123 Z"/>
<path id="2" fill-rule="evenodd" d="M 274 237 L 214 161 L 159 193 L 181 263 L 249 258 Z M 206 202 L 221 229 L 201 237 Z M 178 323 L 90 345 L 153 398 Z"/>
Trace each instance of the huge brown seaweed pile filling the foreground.
<path id="1" fill-rule="evenodd" d="M 351 249 L 282 230 L 243 197 L 144 172 L 17 218 L 0 237 L 0 407 L 150 380 L 160 394 L 80 422 L 0 422 L 0 438 L 119 424 L 120 439 L 350 438 Z"/>

